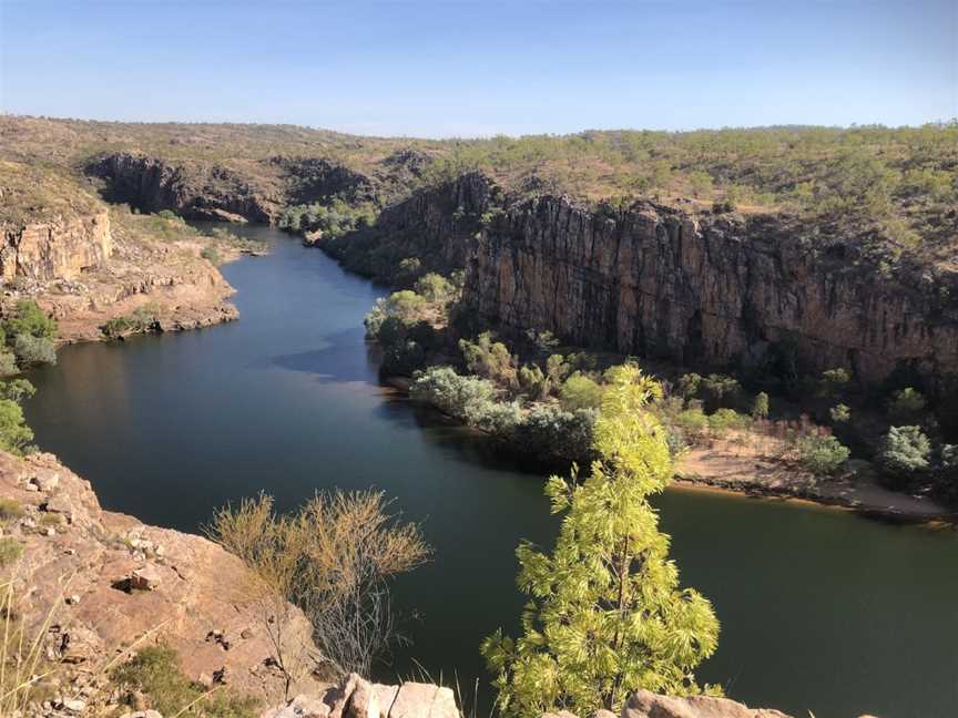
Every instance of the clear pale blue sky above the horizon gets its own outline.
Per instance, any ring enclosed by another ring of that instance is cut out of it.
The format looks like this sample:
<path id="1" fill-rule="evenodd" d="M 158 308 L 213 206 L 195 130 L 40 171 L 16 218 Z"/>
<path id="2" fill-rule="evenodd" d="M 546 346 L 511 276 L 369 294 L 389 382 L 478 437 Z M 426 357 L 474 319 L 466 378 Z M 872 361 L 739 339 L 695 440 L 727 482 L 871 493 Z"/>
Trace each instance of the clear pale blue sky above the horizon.
<path id="1" fill-rule="evenodd" d="M 0 109 L 417 136 L 958 115 L 958 0 L 0 0 Z"/>

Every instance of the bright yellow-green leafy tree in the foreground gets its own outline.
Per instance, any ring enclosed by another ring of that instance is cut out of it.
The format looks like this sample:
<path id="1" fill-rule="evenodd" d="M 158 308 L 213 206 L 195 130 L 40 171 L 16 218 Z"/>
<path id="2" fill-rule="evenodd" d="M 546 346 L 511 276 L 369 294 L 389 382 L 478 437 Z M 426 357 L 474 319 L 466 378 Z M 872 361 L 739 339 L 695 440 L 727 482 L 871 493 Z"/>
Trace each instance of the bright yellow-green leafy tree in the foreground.
<path id="1" fill-rule="evenodd" d="M 697 691 L 694 668 L 714 653 L 718 622 L 706 598 L 679 588 L 669 536 L 649 496 L 672 478 L 665 432 L 646 411 L 661 387 L 625 365 L 610 370 L 595 424 L 591 475 L 549 479 L 565 512 L 554 552 L 517 550 L 530 599 L 517 640 L 501 629 L 481 652 L 505 715 L 620 710 L 639 688 Z"/>

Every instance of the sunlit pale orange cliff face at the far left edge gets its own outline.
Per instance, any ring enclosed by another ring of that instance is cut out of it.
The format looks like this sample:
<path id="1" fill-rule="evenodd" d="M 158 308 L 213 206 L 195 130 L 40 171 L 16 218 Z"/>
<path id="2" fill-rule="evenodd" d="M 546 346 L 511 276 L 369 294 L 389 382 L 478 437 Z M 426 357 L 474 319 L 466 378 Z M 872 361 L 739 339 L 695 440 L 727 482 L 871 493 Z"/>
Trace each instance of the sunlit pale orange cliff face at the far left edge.
<path id="1" fill-rule="evenodd" d="M 110 216 L 103 212 L 3 228 L 0 277 L 40 281 L 75 279 L 105 266 L 113 252 Z"/>

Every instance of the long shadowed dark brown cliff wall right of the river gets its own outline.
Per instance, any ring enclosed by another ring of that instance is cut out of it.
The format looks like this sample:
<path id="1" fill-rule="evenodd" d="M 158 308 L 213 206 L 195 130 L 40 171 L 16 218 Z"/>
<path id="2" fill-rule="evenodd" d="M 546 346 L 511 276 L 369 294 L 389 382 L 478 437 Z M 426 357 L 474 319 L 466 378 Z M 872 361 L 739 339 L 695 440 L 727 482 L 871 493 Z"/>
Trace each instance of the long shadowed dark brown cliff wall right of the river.
<path id="1" fill-rule="evenodd" d="M 853 247 L 774 218 L 595 213 L 554 196 L 495 218 L 463 293 L 489 319 L 583 346 L 754 369 L 788 352 L 869 382 L 958 371 L 956 297 L 954 276 L 883 275 Z"/>

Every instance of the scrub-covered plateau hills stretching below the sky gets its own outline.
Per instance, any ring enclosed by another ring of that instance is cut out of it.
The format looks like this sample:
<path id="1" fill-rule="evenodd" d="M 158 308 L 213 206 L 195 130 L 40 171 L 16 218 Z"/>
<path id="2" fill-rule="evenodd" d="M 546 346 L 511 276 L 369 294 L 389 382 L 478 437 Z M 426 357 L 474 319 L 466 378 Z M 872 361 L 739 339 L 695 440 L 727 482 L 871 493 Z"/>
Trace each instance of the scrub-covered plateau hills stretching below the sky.
<path id="1" fill-rule="evenodd" d="M 481 170 L 517 198 L 651 197 L 692 212 L 786 213 L 823 234 L 879 237 L 897 252 L 945 265 L 954 260 L 958 220 L 954 121 L 898 129 L 589 131 L 434 141 L 292 125 L 0 119 L 0 160 L 28 163 L 32 172 L 42 165 L 50 182 L 118 152 L 143 153 L 185 172 L 215 165 L 273 192 L 282 189 L 278 178 L 288 172 L 278 158 L 323 158 L 367 176 L 380 205 Z M 9 174 L 4 186 L 12 184 Z M 4 189 L 4 197 L 10 194 Z M 0 218 L 23 202 L 38 204 L 14 195 Z"/>

